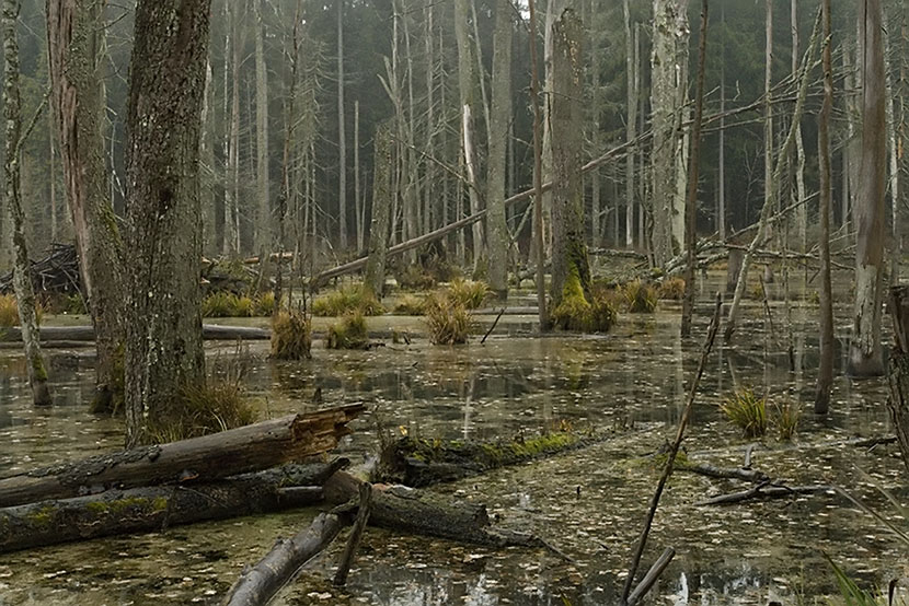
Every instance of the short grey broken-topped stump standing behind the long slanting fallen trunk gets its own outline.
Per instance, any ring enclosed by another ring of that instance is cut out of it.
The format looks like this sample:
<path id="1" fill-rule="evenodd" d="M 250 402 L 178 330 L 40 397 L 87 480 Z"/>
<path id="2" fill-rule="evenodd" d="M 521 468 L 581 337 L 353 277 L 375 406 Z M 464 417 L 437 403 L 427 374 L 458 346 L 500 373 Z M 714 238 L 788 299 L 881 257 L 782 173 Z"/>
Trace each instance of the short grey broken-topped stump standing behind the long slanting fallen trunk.
<path id="1" fill-rule="evenodd" d="M 392 195 L 391 171 L 394 162 L 391 129 L 388 125 L 376 128 L 372 149 L 372 219 L 369 224 L 369 257 L 366 261 L 364 285 L 373 295 L 381 296 L 386 283 L 386 253 Z"/>

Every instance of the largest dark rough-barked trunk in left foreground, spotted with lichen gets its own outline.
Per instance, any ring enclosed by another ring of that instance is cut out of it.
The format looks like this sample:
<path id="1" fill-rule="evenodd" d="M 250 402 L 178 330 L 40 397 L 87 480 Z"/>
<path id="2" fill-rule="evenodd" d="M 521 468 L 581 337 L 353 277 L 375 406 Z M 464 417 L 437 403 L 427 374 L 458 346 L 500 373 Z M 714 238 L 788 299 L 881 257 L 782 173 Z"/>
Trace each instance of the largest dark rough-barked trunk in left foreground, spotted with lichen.
<path id="1" fill-rule="evenodd" d="M 142 0 L 127 105 L 127 444 L 205 381 L 199 135 L 210 0 Z"/>

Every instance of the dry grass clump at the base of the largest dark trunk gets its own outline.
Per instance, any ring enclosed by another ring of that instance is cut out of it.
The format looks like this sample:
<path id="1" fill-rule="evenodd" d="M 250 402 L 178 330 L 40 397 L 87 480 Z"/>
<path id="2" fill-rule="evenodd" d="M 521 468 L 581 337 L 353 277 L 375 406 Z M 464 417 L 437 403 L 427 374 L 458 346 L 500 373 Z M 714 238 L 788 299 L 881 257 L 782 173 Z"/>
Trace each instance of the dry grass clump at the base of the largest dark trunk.
<path id="1" fill-rule="evenodd" d="M 240 383 L 215 381 L 180 391 L 180 405 L 149 424 L 154 442 L 176 442 L 254 423 L 258 415 Z"/>

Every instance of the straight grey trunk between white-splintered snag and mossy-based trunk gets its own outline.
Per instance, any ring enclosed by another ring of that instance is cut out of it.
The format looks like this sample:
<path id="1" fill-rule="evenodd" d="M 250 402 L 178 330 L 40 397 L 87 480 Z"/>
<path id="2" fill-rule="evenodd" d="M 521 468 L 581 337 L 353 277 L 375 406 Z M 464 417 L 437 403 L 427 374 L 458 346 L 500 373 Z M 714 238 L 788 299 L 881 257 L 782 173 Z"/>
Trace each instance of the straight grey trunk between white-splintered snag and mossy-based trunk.
<path id="1" fill-rule="evenodd" d="M 507 2 L 498 2 L 493 36 L 493 101 L 486 176 L 486 234 L 490 285 L 504 300 L 508 294 L 508 226 L 505 222 L 505 160 L 511 119 L 511 15 Z"/>

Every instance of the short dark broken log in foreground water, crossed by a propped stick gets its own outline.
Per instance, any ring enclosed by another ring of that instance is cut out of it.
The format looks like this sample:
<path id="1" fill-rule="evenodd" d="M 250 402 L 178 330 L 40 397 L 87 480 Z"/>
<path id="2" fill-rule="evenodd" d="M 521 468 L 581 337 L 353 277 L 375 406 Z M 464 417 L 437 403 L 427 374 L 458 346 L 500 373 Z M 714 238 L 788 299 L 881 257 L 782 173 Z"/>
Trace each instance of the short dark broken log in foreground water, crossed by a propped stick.
<path id="1" fill-rule="evenodd" d="M 356 509 L 360 483 L 350 474 L 338 471 L 323 487 L 325 501 L 344 505 L 342 512 Z M 492 547 L 545 547 L 531 534 L 493 526 L 483 505 L 452 502 L 405 487 L 372 486 L 369 525 Z"/>

